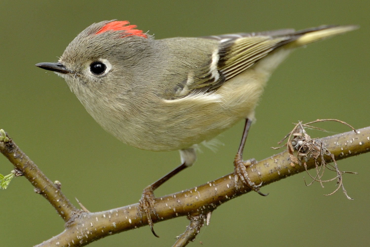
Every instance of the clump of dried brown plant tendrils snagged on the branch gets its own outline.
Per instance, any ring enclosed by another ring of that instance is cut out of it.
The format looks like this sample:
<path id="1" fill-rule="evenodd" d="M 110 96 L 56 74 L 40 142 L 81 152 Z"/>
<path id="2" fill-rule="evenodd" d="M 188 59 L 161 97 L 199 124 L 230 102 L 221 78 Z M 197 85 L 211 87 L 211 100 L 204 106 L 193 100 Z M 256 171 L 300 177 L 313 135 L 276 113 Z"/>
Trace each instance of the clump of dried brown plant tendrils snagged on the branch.
<path id="1" fill-rule="evenodd" d="M 306 169 L 307 174 L 312 178 L 312 182 L 307 184 L 305 180 L 306 186 L 310 186 L 314 181 L 317 181 L 320 183 L 320 185 L 324 188 L 323 183 L 327 183 L 333 180 L 337 181 L 337 188 L 330 194 L 324 195 L 324 196 L 331 196 L 332 194 L 336 193 L 339 188 L 342 188 L 343 193 L 346 195 L 346 197 L 349 200 L 353 200 L 353 198 L 349 197 L 347 195 L 347 191 L 344 189 L 343 186 L 343 173 L 352 173 L 352 174 L 357 174 L 355 172 L 350 172 L 350 171 L 340 171 L 337 165 L 337 162 L 334 158 L 334 155 L 330 153 L 327 148 L 323 147 L 322 143 L 318 143 L 316 140 L 317 138 L 311 138 L 307 133 L 305 128 L 314 128 L 317 130 L 323 130 L 321 128 L 313 127 L 310 126 L 310 124 L 313 123 L 318 123 L 318 122 L 323 122 L 323 121 L 337 121 L 339 123 L 342 123 L 344 125 L 349 126 L 353 131 L 356 131 L 352 126 L 349 124 L 337 120 L 337 119 L 317 119 L 316 121 L 312 121 L 310 123 L 303 124 L 302 122 L 298 122 L 296 126 L 293 128 L 293 130 L 287 134 L 283 140 L 279 141 L 278 144 L 283 143 L 283 141 L 287 139 L 287 143 L 281 147 L 286 147 L 287 151 L 289 152 L 289 157 L 290 160 L 292 161 L 290 163 L 290 166 L 295 167 L 296 164 L 302 165 Z M 280 147 L 276 147 L 273 149 L 277 149 Z M 297 151 L 297 156 L 293 155 L 293 152 Z M 324 156 L 330 156 L 330 158 L 333 160 L 333 164 L 329 164 L 325 162 Z M 315 170 L 316 170 L 316 176 L 312 176 L 309 171 L 307 170 L 307 165 L 305 162 L 305 159 L 313 157 L 315 159 Z M 321 161 L 318 161 L 321 160 Z M 324 176 L 324 171 L 325 168 L 330 171 L 334 171 L 336 173 L 336 176 L 329 179 L 329 180 L 322 180 L 322 177 Z M 305 179 L 303 177 L 303 179 Z"/>

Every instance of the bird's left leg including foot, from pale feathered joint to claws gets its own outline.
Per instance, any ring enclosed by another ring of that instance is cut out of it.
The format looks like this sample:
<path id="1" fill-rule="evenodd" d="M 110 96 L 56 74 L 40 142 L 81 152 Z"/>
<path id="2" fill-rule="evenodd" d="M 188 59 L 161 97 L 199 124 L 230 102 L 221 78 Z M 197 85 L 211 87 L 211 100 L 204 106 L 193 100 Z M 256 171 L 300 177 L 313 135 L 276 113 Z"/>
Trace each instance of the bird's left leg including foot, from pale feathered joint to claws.
<path id="1" fill-rule="evenodd" d="M 159 186 L 161 186 L 163 183 L 165 183 L 165 181 L 169 180 L 171 177 L 175 176 L 177 173 L 184 170 L 186 167 L 192 166 L 192 164 L 194 164 L 196 160 L 196 153 L 195 153 L 194 148 L 189 148 L 189 149 L 184 149 L 184 150 L 179 150 L 179 151 L 180 151 L 180 157 L 181 157 L 182 164 L 176 167 L 174 170 L 167 173 L 165 176 L 163 176 L 159 180 L 149 185 L 148 187 L 144 188 L 141 198 L 139 200 L 139 205 L 138 205 L 139 216 L 141 217 L 141 219 L 144 214 L 145 216 L 147 216 L 148 225 L 150 227 L 150 230 L 156 237 L 159 237 L 159 236 L 155 234 L 153 230 L 154 224 L 153 224 L 152 217 L 151 217 L 151 213 L 152 213 L 159 218 L 154 208 L 154 203 L 155 203 L 154 190 L 157 189 Z"/>

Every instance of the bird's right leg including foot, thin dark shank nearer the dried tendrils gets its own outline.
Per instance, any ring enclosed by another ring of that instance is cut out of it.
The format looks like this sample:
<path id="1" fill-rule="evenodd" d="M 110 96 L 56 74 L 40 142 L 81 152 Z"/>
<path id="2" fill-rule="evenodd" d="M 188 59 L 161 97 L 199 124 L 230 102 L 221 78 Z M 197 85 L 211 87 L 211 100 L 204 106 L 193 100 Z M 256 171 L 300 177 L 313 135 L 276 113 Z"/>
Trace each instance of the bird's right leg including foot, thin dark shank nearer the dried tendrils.
<path id="1" fill-rule="evenodd" d="M 252 121 L 250 121 L 249 119 L 245 120 L 245 127 L 244 127 L 244 131 L 243 131 L 242 141 L 240 142 L 238 152 L 236 153 L 236 156 L 235 156 L 235 159 L 234 159 L 235 187 L 237 187 L 236 184 L 237 184 L 237 182 L 240 178 L 240 180 L 242 181 L 243 184 L 245 184 L 246 186 L 248 186 L 252 190 L 256 191 L 258 194 L 260 194 L 261 196 L 267 196 L 268 194 L 263 194 L 261 191 L 259 191 L 259 187 L 262 185 L 262 183 L 260 183 L 259 185 L 256 185 L 255 183 L 250 181 L 250 179 L 248 177 L 248 173 L 246 171 L 246 167 L 255 163 L 256 160 L 253 158 L 253 159 L 250 159 L 250 160 L 243 161 L 244 144 L 245 144 L 245 140 L 247 139 L 248 131 L 249 131 L 251 123 L 252 123 Z"/>

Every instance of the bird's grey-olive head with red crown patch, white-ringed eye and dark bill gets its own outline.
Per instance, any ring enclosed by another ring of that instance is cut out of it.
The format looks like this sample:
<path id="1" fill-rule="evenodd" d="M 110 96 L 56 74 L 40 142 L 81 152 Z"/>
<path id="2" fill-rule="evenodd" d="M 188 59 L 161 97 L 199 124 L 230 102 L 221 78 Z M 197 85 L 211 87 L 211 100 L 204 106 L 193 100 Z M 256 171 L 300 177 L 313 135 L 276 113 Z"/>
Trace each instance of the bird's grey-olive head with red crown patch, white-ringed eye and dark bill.
<path id="1" fill-rule="evenodd" d="M 75 37 L 57 63 L 36 66 L 63 77 L 81 102 L 112 96 L 131 87 L 135 68 L 145 64 L 153 39 L 136 27 L 128 21 L 94 23 Z"/>

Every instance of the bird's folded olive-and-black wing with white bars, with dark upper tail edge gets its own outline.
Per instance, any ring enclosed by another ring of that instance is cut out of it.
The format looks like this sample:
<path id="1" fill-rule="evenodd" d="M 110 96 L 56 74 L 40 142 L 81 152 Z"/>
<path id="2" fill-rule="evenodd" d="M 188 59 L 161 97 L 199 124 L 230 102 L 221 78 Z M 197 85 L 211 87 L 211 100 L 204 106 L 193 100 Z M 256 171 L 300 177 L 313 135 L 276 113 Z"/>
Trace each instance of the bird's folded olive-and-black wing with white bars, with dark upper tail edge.
<path id="1" fill-rule="evenodd" d="M 177 99 L 193 93 L 215 90 L 225 81 L 251 68 L 269 53 L 292 43 L 304 34 L 335 28 L 335 26 L 320 26 L 301 31 L 283 29 L 199 37 L 218 41 L 218 46 L 212 54 L 208 54 L 208 61 L 198 64 L 196 69 L 185 73 L 186 79 L 176 85 L 179 90 L 174 91 L 170 98 Z"/>

